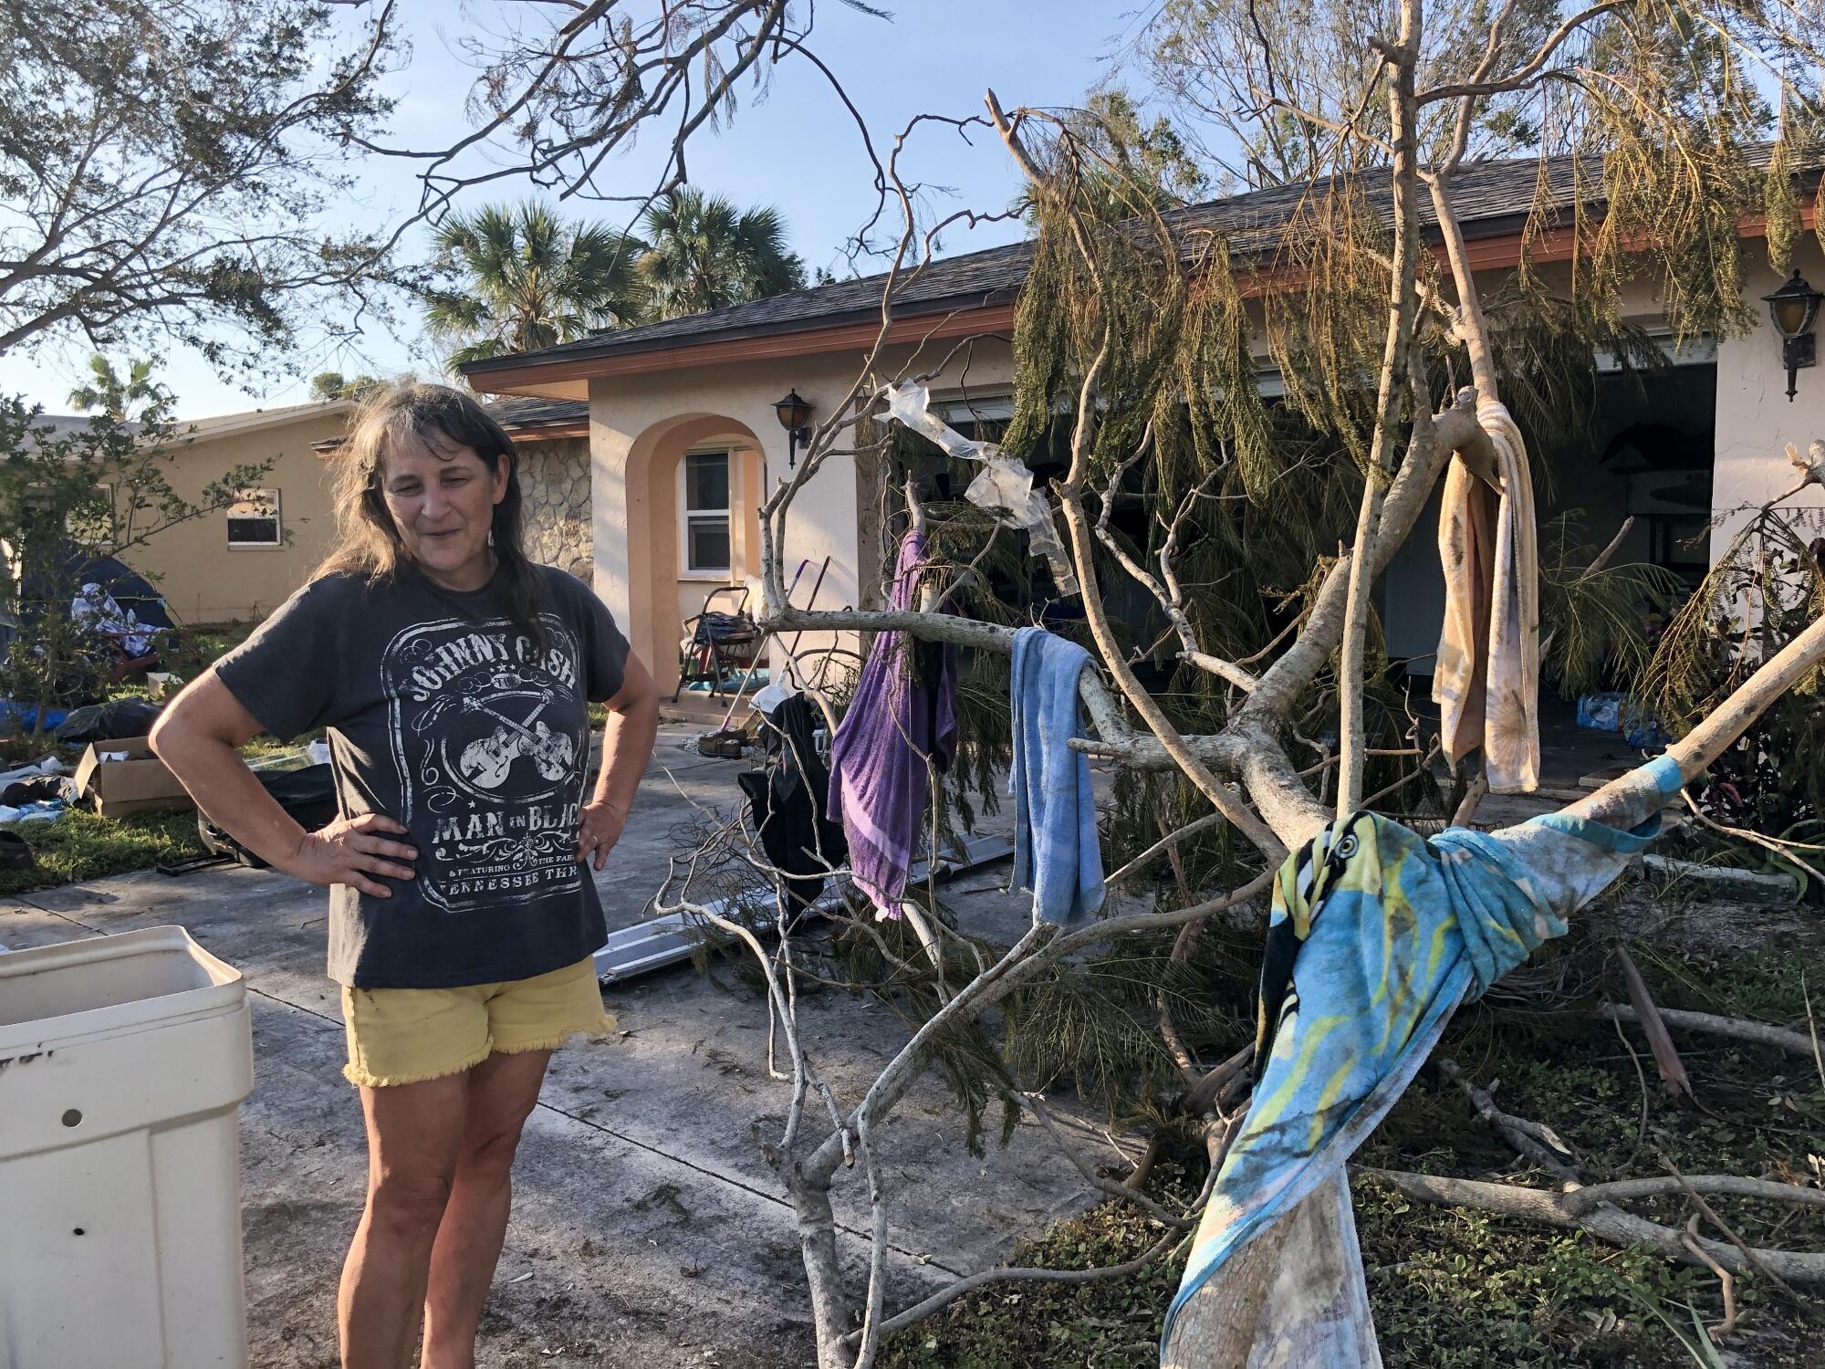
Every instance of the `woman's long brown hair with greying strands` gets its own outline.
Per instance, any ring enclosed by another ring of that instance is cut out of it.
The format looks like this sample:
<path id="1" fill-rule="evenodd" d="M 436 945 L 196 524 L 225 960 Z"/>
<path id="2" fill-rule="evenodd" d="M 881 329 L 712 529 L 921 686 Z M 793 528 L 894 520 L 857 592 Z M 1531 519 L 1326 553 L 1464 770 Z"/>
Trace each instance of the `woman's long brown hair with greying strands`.
<path id="1" fill-rule="evenodd" d="M 385 493 L 387 451 L 412 438 L 442 460 L 453 460 L 458 447 L 471 447 L 496 473 L 502 462 L 507 464 L 507 493 L 495 506 L 489 524 L 498 560 L 496 580 L 513 626 L 544 650 L 546 630 L 538 613 L 544 608 L 546 582 L 526 555 L 520 460 L 513 451 L 513 438 L 487 409 L 449 385 L 409 380 L 374 391 L 361 403 L 336 473 L 336 548 L 312 579 L 352 575 L 369 584 L 385 584 L 420 573 L 392 520 Z"/>

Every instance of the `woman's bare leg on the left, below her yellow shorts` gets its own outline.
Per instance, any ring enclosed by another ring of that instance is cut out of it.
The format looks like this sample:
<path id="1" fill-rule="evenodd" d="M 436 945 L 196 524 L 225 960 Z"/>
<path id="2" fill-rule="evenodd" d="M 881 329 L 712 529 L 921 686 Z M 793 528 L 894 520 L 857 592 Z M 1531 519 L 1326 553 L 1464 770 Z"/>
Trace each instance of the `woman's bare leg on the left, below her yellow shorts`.
<path id="1" fill-rule="evenodd" d="M 367 1207 L 343 1263 L 343 1369 L 407 1369 L 469 1112 L 469 1075 L 361 1090 Z"/>

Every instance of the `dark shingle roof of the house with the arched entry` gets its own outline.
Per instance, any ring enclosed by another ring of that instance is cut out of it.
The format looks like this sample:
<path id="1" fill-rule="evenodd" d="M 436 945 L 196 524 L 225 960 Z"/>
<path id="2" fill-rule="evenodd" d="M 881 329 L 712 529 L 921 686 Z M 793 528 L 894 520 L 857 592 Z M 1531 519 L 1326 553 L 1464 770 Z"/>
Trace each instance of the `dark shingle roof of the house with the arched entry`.
<path id="1" fill-rule="evenodd" d="M 1767 148 L 1748 150 L 1750 164 L 1767 164 Z M 1601 181 L 1601 161 L 1584 159 L 1584 184 Z M 1509 161 L 1465 162 L 1451 183 L 1451 203 L 1469 239 L 1515 232 L 1537 203 L 1568 208 L 1577 195 L 1579 175 L 1571 157 L 1520 157 Z M 1542 184 L 1544 181 L 1544 184 Z M 1391 192 L 1385 170 L 1365 172 L 1361 183 L 1369 204 L 1391 221 Z M 1246 257 L 1272 245 L 1274 234 L 1307 197 L 1309 186 L 1252 190 L 1206 204 L 1168 214 L 1173 228 L 1184 232 L 1215 230 L 1228 237 L 1230 250 Z M 1431 197 L 1420 197 L 1420 219 L 1436 232 L 1438 215 Z M 1026 279 L 1033 257 L 1031 243 L 1009 243 L 984 252 L 967 252 L 929 263 L 894 292 L 894 316 L 951 312 L 1011 299 Z M 533 352 L 489 358 L 464 365 L 467 376 L 484 380 L 489 371 L 520 369 L 527 363 L 617 356 L 624 352 L 692 347 L 695 343 L 754 338 L 801 329 L 860 323 L 878 318 L 885 274 L 854 281 L 814 285 L 790 294 L 770 296 L 745 305 L 714 308 L 704 314 L 646 323 L 635 329 L 600 332 Z"/>

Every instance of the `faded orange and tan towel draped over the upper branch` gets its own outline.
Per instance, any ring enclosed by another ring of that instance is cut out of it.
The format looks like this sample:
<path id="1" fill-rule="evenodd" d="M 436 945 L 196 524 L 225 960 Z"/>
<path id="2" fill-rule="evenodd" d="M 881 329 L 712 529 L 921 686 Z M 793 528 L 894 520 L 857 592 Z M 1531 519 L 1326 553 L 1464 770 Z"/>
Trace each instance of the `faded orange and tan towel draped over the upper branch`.
<path id="1" fill-rule="evenodd" d="M 1453 765 L 1484 748 L 1489 789 L 1540 787 L 1540 557 L 1533 528 L 1528 444 L 1507 409 L 1476 405 L 1495 445 L 1500 491 L 1462 456 L 1445 473 L 1438 559 L 1445 571 L 1445 622 L 1438 637 L 1433 699 Z"/>

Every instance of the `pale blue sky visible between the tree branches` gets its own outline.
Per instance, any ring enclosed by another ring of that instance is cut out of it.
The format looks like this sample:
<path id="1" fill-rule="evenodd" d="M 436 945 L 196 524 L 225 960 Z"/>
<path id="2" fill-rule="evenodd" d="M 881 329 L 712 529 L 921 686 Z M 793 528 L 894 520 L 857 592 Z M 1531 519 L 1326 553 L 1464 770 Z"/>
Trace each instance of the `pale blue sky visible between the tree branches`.
<path id="1" fill-rule="evenodd" d="M 1108 73 L 1111 40 L 1133 24 L 1133 5 L 1091 0 L 885 0 L 894 18 L 883 22 L 856 13 L 838 0 L 818 5 L 814 47 L 843 80 L 869 122 L 876 148 L 885 157 L 894 133 L 914 113 L 967 117 L 982 113 L 982 93 L 993 86 L 1002 104 L 1077 104 L 1084 91 Z M 464 18 L 489 22 L 511 5 L 449 4 L 409 5 L 416 11 L 409 37 L 411 62 L 391 78 L 400 97 L 392 142 L 403 146 L 447 144 L 464 130 L 464 95 L 471 71 L 458 53 Z M 929 186 L 931 217 L 947 208 L 1000 210 L 1017 190 L 1018 177 L 1006 153 L 984 130 L 971 131 L 969 146 L 936 126 L 923 128 L 902 155 L 909 181 Z M 642 142 L 610 162 L 606 181 L 615 193 L 637 193 L 653 184 L 662 161 L 659 139 Z M 788 60 L 763 99 L 741 91 L 741 108 L 721 135 L 699 135 L 690 144 L 692 181 L 741 204 L 772 203 L 790 226 L 792 245 L 807 266 L 850 272 L 841 256 L 843 241 L 874 206 L 871 172 L 860 137 L 836 95 L 803 60 Z M 352 168 L 360 184 L 336 217 L 381 226 L 416 203 L 409 162 L 367 159 Z M 495 183 L 465 204 L 524 193 L 513 181 Z M 628 210 L 613 204 L 571 201 L 571 212 L 624 221 Z M 619 217 L 617 217 L 619 215 Z M 1013 225 L 954 228 L 944 237 L 945 252 L 993 246 L 1018 235 Z M 423 241 L 414 234 L 411 248 Z M 0 356 L 0 392 L 22 392 L 47 411 L 68 409 L 73 380 L 86 367 L 88 350 L 40 345 Z M 159 378 L 179 396 L 186 418 L 296 403 L 307 398 L 314 371 L 396 372 L 434 369 L 418 338 L 416 316 L 402 312 L 400 336 L 370 330 L 358 354 L 307 352 L 297 358 L 301 378 L 281 378 L 256 391 L 221 381 L 203 358 L 172 352 L 159 358 Z"/>

